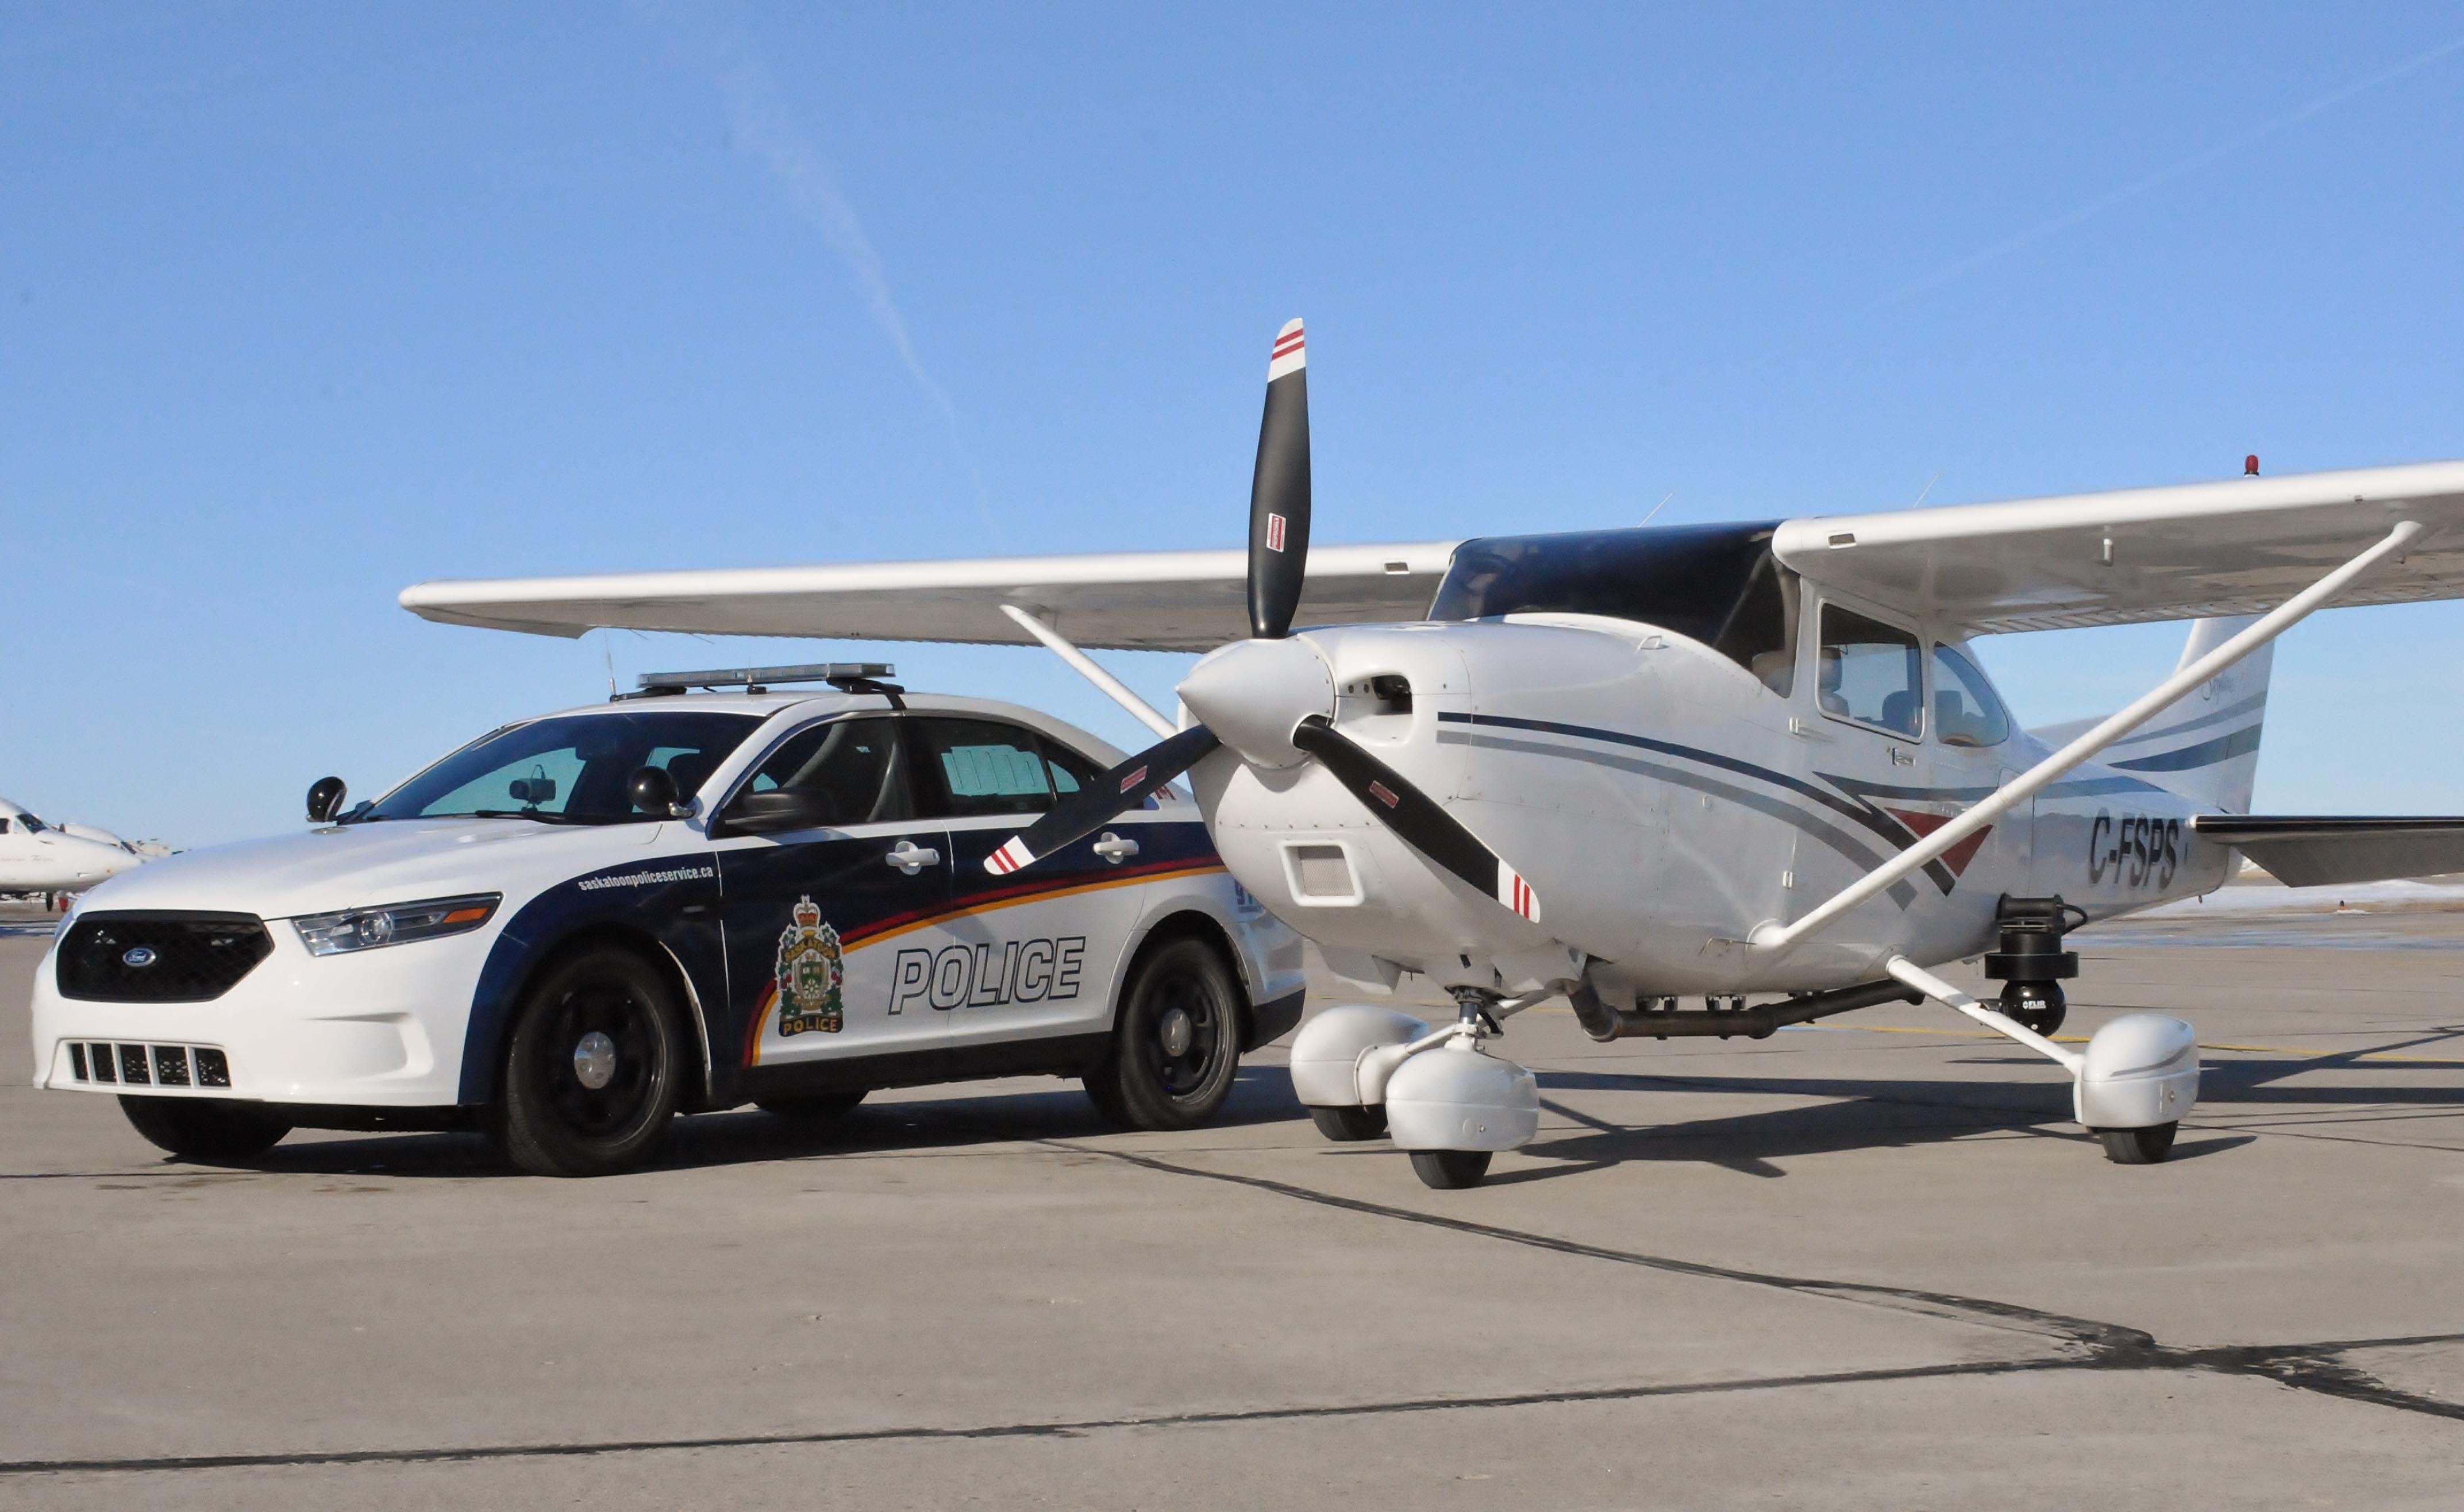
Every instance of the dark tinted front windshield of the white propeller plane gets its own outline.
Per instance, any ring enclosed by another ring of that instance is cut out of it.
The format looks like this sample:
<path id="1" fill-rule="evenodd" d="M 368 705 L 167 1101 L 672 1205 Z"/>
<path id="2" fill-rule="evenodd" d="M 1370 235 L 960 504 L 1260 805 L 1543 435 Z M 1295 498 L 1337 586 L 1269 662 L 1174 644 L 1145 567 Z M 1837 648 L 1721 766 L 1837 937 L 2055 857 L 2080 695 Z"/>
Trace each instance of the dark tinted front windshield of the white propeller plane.
<path id="1" fill-rule="evenodd" d="M 1454 552 L 1432 621 L 1597 613 L 1676 630 L 1786 694 L 1796 574 L 1772 557 L 1774 525 L 1676 525 L 1483 537 Z"/>

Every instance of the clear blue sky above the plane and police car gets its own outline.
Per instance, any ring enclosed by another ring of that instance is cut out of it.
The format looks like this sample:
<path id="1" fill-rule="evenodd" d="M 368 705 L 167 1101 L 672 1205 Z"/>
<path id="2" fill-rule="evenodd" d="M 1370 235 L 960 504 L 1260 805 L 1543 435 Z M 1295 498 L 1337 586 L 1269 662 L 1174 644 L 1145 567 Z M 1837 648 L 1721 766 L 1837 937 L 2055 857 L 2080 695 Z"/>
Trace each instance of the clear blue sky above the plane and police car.
<path id="1" fill-rule="evenodd" d="M 2464 7 L 17 5 L 0 793 L 298 822 L 638 670 L 434 576 L 1237 544 L 2464 456 Z M 1986 643 L 2030 722 L 2178 625 Z M 2464 810 L 2464 606 L 2284 640 L 2259 808 Z M 1165 702 L 1183 657 L 1111 657 Z"/>

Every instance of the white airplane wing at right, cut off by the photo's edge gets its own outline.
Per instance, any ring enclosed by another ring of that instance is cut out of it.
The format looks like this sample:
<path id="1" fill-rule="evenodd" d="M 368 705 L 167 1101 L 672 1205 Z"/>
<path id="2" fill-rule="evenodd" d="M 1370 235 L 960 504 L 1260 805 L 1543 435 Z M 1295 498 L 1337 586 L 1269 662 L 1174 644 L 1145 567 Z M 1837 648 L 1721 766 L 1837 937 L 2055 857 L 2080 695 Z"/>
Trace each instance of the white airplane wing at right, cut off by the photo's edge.
<path id="1" fill-rule="evenodd" d="M 1781 561 L 1971 633 L 2262 613 L 2397 520 L 2427 534 L 2336 603 L 2464 596 L 2464 463 L 1789 520 Z"/>

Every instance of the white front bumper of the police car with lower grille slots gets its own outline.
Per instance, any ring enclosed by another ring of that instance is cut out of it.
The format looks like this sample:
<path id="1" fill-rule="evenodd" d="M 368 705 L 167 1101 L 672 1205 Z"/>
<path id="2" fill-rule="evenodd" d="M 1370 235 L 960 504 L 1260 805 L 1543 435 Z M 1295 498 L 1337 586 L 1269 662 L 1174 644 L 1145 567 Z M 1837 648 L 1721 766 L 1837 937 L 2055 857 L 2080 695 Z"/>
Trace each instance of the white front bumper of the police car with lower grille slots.
<path id="1" fill-rule="evenodd" d="M 338 1108 L 456 1101 L 493 926 L 350 955 L 310 955 L 288 919 L 269 919 L 266 933 L 274 953 L 209 1002 L 62 997 L 47 953 L 34 973 L 34 1086 Z M 96 1047 L 108 1047 L 108 1081 Z"/>

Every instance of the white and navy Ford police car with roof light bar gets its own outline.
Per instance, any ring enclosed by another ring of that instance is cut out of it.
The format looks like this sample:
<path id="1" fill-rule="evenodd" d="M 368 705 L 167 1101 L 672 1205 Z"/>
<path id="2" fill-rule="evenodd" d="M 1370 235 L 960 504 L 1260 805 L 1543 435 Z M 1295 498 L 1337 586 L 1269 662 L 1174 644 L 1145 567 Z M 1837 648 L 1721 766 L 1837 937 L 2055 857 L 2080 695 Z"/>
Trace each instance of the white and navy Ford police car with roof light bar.
<path id="1" fill-rule="evenodd" d="M 887 672 L 646 677 L 350 810 L 325 778 L 308 832 L 116 877 L 37 973 L 37 1086 L 118 1096 L 182 1157 L 485 1128 L 540 1175 L 621 1170 L 675 1113 L 838 1118 L 976 1076 L 1082 1076 L 1131 1128 L 1212 1118 L 1301 1017 L 1299 936 L 1170 788 L 991 874 L 1121 754 Z"/>

